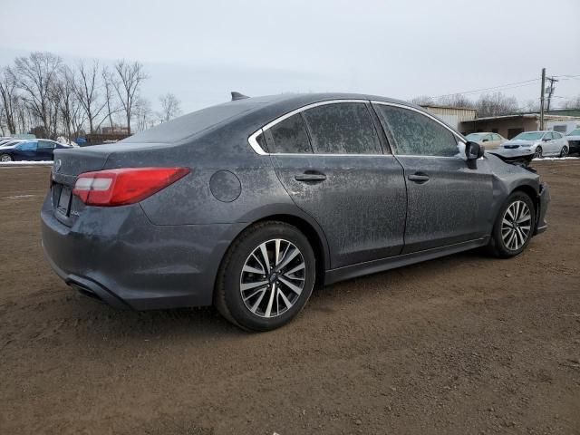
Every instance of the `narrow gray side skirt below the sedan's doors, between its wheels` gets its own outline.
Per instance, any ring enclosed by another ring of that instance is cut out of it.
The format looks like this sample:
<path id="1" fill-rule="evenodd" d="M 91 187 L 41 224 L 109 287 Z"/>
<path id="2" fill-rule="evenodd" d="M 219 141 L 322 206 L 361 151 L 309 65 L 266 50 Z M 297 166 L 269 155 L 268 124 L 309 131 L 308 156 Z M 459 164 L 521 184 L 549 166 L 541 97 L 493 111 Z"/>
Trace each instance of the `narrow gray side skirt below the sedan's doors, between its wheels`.
<path id="1" fill-rule="evenodd" d="M 468 251 L 476 247 L 485 247 L 489 242 L 489 236 L 481 237 L 468 242 L 456 243 L 446 247 L 434 247 L 424 251 L 413 252 L 403 256 L 390 256 L 380 260 L 367 261 L 352 266 L 344 266 L 326 271 L 324 276 L 324 285 L 330 285 L 343 281 L 345 279 L 355 278 L 362 275 L 371 275 L 385 270 L 394 269 L 402 266 L 409 266 L 422 261 L 432 260 L 440 256 L 449 256 L 458 252 Z"/>

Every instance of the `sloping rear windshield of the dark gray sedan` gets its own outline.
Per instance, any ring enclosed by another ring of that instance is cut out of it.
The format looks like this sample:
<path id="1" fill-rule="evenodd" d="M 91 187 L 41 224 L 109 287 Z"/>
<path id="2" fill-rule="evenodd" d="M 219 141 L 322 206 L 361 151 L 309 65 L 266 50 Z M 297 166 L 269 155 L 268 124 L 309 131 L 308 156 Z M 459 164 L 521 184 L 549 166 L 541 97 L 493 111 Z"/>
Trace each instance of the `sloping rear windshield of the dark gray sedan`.
<path id="1" fill-rule="evenodd" d="M 164 122 L 150 130 L 141 131 L 121 140 L 121 143 L 173 143 L 184 140 L 210 127 L 227 121 L 256 107 L 250 102 L 227 102 L 194 111 L 175 120 Z"/>

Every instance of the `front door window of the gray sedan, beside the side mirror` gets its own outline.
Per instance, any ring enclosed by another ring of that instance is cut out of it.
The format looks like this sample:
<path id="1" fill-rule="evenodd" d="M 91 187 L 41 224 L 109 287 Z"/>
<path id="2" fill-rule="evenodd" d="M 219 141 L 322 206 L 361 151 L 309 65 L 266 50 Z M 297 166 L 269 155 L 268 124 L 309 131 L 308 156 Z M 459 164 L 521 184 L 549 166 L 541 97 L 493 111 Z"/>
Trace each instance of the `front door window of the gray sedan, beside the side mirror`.
<path id="1" fill-rule="evenodd" d="M 453 157 L 457 140 L 439 122 L 417 111 L 377 104 L 382 122 L 391 131 L 397 154 L 408 156 Z"/>

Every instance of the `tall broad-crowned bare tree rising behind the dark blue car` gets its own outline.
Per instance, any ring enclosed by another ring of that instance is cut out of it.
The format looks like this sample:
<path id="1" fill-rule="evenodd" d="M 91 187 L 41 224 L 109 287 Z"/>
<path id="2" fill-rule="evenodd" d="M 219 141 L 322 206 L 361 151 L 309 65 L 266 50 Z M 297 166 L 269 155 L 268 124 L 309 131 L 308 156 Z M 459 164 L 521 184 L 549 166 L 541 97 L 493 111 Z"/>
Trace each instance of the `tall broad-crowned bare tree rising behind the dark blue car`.
<path id="1" fill-rule="evenodd" d="M 63 61 L 53 53 L 31 53 L 17 57 L 14 69 L 9 69 L 16 85 L 23 91 L 23 99 L 34 116 L 43 123 L 45 134 L 53 131 L 51 91 Z"/>

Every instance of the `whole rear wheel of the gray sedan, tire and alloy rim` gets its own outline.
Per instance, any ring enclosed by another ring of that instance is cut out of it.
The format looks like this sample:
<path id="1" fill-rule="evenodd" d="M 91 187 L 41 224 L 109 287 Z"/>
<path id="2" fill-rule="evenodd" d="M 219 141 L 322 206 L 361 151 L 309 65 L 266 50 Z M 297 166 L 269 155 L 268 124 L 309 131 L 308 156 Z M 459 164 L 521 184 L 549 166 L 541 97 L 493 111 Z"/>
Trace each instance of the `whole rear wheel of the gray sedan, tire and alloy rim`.
<path id="1" fill-rule="evenodd" d="M 302 232 L 284 222 L 259 223 L 228 249 L 214 304 L 243 329 L 270 331 L 300 312 L 315 275 L 314 251 Z"/>

